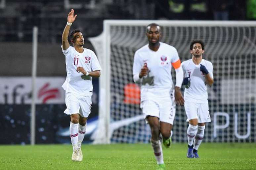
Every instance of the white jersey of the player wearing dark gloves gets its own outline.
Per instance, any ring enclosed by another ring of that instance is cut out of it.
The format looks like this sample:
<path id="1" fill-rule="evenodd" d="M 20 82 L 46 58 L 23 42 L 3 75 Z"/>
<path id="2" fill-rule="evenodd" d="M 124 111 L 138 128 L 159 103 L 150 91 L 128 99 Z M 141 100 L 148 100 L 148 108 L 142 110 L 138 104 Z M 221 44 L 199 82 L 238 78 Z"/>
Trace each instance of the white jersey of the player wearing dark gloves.
<path id="1" fill-rule="evenodd" d="M 210 76 L 213 78 L 213 66 L 212 63 L 202 59 L 201 63 L 209 71 Z M 190 87 L 185 88 L 184 99 L 193 101 L 196 103 L 207 103 L 208 94 L 205 82 L 205 75 L 200 71 L 200 64 L 196 65 L 189 59 L 182 62 L 181 66 L 184 72 L 184 77 L 190 78 Z"/>

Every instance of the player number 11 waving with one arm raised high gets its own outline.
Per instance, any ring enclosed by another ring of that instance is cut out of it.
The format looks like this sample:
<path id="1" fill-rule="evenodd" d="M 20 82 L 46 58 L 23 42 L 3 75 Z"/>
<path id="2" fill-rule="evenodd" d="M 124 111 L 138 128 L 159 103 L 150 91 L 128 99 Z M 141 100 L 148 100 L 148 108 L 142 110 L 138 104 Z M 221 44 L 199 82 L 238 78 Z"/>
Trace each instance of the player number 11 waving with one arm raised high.
<path id="1" fill-rule="evenodd" d="M 82 161 L 81 143 L 86 131 L 86 121 L 92 106 L 92 77 L 100 77 L 101 66 L 92 50 L 86 49 L 84 37 L 81 31 L 69 29 L 75 21 L 74 10 L 71 9 L 67 16 L 67 24 L 62 35 L 62 51 L 66 60 L 67 77 L 63 84 L 65 92 L 65 103 L 67 109 L 64 113 L 70 115 L 70 137 L 73 146 L 73 161 Z"/>

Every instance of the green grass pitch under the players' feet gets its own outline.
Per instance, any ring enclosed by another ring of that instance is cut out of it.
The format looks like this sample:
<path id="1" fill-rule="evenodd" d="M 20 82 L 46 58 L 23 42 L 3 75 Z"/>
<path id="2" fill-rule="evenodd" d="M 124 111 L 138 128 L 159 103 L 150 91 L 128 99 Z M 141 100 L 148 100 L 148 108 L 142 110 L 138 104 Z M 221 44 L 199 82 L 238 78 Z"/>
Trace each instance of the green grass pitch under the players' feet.
<path id="1" fill-rule="evenodd" d="M 149 144 L 82 145 L 83 161 L 72 162 L 71 145 L 0 145 L 0 169 L 150 170 L 156 161 Z M 187 144 L 165 149 L 166 169 L 256 169 L 255 144 L 202 143 L 199 159 L 186 157 Z"/>

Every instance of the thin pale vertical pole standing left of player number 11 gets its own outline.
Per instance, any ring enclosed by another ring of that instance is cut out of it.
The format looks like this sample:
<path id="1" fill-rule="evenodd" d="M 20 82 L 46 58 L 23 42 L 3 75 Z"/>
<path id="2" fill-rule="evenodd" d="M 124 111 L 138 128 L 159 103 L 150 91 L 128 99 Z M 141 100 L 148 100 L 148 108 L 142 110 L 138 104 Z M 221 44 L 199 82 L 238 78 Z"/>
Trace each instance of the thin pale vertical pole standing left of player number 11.
<path id="1" fill-rule="evenodd" d="M 35 144 L 35 80 L 36 80 L 36 60 L 37 60 L 37 26 L 33 27 L 33 40 L 32 40 L 32 101 L 31 101 L 31 119 L 30 119 L 30 144 Z"/>

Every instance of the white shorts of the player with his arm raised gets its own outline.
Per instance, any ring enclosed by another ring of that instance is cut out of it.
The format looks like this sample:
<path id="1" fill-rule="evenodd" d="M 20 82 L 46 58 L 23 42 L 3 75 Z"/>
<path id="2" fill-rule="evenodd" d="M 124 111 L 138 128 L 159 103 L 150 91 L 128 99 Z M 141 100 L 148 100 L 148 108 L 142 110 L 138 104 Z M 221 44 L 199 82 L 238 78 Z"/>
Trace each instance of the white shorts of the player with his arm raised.
<path id="1" fill-rule="evenodd" d="M 67 92 L 65 96 L 66 110 L 68 115 L 79 113 L 82 117 L 87 118 L 91 113 L 92 96 L 79 96 Z"/>

